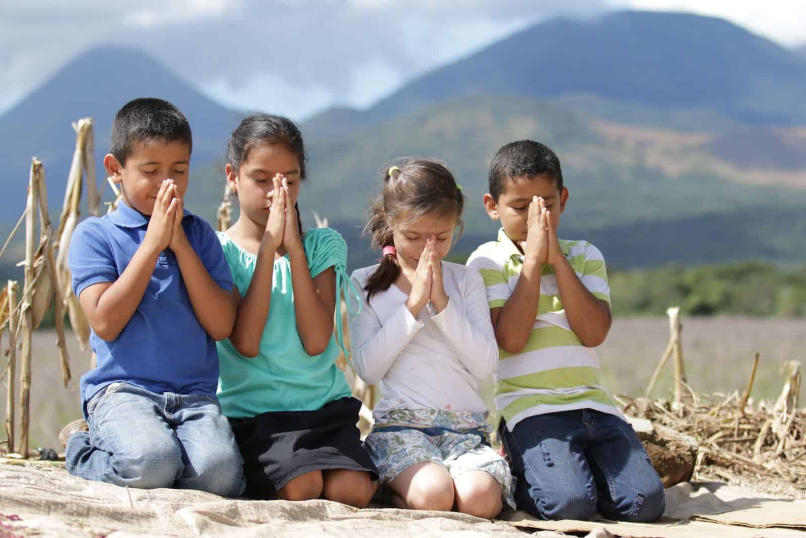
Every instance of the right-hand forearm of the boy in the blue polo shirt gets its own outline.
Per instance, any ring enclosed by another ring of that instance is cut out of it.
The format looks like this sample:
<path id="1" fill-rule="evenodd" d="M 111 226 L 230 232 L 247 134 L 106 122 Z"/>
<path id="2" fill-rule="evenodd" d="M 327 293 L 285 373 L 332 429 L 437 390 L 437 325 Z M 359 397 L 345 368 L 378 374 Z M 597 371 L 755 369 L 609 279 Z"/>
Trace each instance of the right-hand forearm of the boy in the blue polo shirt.
<path id="1" fill-rule="evenodd" d="M 188 243 L 174 251 L 182 280 L 188 290 L 193 313 L 213 340 L 230 336 L 235 322 L 235 306 L 230 292 L 210 277 L 207 268 Z"/>

